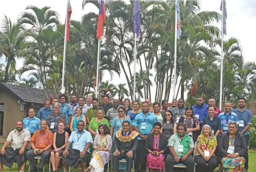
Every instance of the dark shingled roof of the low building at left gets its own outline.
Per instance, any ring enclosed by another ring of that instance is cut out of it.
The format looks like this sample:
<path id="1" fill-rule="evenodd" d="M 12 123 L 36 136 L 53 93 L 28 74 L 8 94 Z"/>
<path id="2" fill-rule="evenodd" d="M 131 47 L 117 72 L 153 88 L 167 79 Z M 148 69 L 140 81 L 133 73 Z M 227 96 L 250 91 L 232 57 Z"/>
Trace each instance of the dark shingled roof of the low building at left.
<path id="1" fill-rule="evenodd" d="M 44 104 L 47 99 L 45 91 L 38 88 L 32 88 L 27 86 L 0 83 L 0 90 L 7 90 L 14 93 L 18 99 L 24 102 L 41 103 Z M 53 97 L 57 97 L 54 91 L 47 91 L 48 98 L 50 99 L 50 93 Z"/>

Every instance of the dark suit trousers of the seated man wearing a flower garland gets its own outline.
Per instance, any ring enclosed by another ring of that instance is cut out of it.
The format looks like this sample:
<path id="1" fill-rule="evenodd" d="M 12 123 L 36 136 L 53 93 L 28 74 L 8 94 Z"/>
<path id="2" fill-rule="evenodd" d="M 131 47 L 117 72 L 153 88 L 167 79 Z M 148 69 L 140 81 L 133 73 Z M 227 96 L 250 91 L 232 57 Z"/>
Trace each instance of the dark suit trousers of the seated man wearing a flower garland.
<path id="1" fill-rule="evenodd" d="M 134 157 L 128 157 L 126 151 L 120 152 L 120 155 L 114 156 L 112 155 L 112 163 L 113 163 L 113 168 L 114 172 L 119 172 L 119 160 L 121 159 L 126 159 L 126 170 L 127 172 L 131 172 L 133 168 L 133 163 L 134 163 Z"/>

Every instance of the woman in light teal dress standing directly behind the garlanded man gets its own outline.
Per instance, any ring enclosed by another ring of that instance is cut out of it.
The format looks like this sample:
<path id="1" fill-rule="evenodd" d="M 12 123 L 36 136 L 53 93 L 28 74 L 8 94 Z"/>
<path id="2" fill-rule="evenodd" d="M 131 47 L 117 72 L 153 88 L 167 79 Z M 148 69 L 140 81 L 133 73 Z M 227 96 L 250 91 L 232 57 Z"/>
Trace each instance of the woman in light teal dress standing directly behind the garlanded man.
<path id="1" fill-rule="evenodd" d="M 123 121 L 129 121 L 130 124 L 132 124 L 132 121 L 130 117 L 126 117 L 126 107 L 125 106 L 119 106 L 117 108 L 118 110 L 118 116 L 114 117 L 114 119 L 111 122 L 111 128 L 110 128 L 110 135 L 113 138 L 113 141 L 115 139 L 115 133 L 118 132 L 120 129 L 122 129 L 122 122 Z M 132 132 L 132 126 L 130 125 L 130 131 Z M 112 150 L 113 154 L 113 150 Z M 126 170 L 126 163 L 119 162 L 119 170 Z"/>

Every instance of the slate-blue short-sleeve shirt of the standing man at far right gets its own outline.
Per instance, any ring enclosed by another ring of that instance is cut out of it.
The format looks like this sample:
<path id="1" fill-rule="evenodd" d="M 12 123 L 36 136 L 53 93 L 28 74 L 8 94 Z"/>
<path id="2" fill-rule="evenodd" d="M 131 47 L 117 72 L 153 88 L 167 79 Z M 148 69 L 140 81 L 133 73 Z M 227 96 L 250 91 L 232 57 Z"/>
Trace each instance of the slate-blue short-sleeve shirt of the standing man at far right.
<path id="1" fill-rule="evenodd" d="M 251 124 L 252 125 L 252 112 L 248 109 L 244 109 L 243 111 L 240 111 L 238 108 L 233 110 L 234 113 L 237 114 L 238 120 L 243 121 L 244 122 L 244 126 L 239 127 L 238 126 L 238 131 L 237 132 L 241 132 L 243 131 L 243 129 L 245 128 L 245 126 L 247 124 Z M 247 130 L 246 132 L 243 133 L 243 135 L 249 135 L 249 130 Z"/>

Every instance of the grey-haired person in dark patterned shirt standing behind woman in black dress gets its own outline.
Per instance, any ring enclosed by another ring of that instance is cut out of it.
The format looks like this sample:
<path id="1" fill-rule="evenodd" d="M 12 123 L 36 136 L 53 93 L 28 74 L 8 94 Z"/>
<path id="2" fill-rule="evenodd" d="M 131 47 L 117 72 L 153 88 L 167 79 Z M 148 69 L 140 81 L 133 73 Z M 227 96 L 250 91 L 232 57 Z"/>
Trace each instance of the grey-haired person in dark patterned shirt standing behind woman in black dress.
<path id="1" fill-rule="evenodd" d="M 63 113 L 60 112 L 60 104 L 55 103 L 53 105 L 53 113 L 49 114 L 47 118 L 47 129 L 50 130 L 52 133 L 56 133 L 58 131 L 58 123 L 59 120 L 63 119 L 65 125 L 67 126 L 67 117 Z"/>

